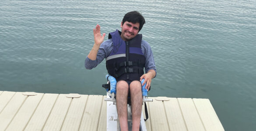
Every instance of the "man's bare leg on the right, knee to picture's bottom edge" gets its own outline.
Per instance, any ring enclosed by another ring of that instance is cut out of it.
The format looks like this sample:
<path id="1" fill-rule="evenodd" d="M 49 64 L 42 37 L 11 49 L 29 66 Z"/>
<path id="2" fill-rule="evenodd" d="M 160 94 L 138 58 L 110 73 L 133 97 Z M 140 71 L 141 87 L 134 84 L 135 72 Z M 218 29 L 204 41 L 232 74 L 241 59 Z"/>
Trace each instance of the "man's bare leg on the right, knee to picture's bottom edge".
<path id="1" fill-rule="evenodd" d="M 139 131 L 142 110 L 141 83 L 137 80 L 130 83 L 133 131 Z"/>

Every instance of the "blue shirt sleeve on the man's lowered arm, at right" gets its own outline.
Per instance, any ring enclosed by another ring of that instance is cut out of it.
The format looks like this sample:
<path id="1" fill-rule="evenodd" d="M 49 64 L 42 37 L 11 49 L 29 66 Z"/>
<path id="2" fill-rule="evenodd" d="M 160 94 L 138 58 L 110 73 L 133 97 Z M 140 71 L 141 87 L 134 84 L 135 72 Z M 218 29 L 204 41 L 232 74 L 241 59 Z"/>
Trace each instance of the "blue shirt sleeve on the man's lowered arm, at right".
<path id="1" fill-rule="evenodd" d="M 153 52 L 151 50 L 150 45 L 147 43 L 147 41 L 142 40 L 141 41 L 141 49 L 146 57 L 146 63 L 145 63 L 145 72 L 147 73 L 149 70 L 153 69 L 155 71 L 155 76 L 157 75 L 156 72 L 156 66 L 154 63 L 154 56 Z"/>

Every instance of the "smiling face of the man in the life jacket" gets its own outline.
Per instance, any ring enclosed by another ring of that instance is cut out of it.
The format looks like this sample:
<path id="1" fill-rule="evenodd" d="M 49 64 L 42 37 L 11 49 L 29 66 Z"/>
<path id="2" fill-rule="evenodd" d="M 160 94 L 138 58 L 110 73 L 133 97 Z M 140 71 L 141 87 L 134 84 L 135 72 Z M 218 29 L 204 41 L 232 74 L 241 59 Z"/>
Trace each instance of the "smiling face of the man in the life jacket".
<path id="1" fill-rule="evenodd" d="M 138 32 L 139 32 L 139 27 L 140 23 L 137 22 L 133 24 L 132 22 L 125 21 L 124 24 L 123 21 L 121 22 L 121 28 L 122 28 L 122 33 L 121 33 L 121 38 L 124 41 L 129 41 L 130 39 L 134 38 Z"/>

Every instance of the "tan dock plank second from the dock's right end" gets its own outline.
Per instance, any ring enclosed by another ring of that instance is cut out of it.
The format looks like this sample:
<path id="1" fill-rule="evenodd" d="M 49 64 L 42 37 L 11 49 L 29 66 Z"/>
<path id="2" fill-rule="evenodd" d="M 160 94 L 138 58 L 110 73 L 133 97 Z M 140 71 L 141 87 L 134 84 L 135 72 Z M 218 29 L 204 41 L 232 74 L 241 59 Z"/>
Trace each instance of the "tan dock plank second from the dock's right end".
<path id="1" fill-rule="evenodd" d="M 196 107 L 191 98 L 178 98 L 188 131 L 205 131 Z"/>

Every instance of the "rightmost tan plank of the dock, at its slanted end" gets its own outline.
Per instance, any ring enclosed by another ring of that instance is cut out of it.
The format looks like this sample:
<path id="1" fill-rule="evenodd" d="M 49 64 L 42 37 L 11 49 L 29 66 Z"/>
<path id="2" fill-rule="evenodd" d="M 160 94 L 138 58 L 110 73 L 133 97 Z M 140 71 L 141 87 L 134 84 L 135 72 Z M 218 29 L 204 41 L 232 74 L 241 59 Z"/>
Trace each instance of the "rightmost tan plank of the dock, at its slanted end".
<path id="1" fill-rule="evenodd" d="M 224 131 L 209 99 L 193 99 L 206 131 Z"/>

